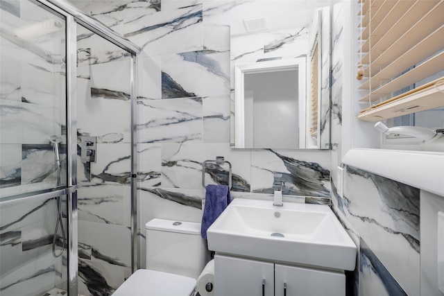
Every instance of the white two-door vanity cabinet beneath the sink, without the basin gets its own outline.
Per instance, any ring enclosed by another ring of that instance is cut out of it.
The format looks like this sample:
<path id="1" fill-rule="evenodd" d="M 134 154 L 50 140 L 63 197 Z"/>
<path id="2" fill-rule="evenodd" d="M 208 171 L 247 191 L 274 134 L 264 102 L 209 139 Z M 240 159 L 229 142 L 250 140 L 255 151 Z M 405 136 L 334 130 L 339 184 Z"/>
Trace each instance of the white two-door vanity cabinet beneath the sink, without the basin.
<path id="1" fill-rule="evenodd" d="M 344 296 L 343 272 L 216 254 L 215 296 Z"/>

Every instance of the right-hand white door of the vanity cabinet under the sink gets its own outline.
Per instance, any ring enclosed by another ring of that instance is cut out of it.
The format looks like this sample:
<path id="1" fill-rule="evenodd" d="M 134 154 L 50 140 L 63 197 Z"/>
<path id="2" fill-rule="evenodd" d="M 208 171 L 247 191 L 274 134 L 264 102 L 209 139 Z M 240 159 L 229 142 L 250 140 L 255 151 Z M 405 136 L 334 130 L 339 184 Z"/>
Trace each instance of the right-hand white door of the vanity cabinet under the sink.
<path id="1" fill-rule="evenodd" d="M 275 265 L 275 296 L 345 296 L 343 272 Z"/>

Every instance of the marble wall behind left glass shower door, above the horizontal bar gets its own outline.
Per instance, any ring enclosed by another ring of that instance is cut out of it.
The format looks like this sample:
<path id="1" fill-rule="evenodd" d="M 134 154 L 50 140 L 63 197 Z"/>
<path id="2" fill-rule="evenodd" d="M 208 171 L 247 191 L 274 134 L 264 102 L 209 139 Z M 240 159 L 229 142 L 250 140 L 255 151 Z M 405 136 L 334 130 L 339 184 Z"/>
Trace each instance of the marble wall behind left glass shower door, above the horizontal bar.
<path id="1" fill-rule="evenodd" d="M 66 130 L 62 31 L 51 41 L 15 31 L 61 19 L 28 1 L 2 1 L 0 54 L 0 197 L 56 186 L 49 137 Z"/>

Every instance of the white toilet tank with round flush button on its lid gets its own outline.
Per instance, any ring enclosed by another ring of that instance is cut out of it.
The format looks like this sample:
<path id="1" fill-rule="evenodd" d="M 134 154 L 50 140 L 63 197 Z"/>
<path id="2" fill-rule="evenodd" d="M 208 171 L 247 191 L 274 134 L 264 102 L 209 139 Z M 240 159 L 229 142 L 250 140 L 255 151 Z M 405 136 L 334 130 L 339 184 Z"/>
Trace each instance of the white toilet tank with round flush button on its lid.
<path id="1" fill-rule="evenodd" d="M 210 261 L 200 223 L 156 218 L 145 228 L 147 269 L 197 279 Z"/>

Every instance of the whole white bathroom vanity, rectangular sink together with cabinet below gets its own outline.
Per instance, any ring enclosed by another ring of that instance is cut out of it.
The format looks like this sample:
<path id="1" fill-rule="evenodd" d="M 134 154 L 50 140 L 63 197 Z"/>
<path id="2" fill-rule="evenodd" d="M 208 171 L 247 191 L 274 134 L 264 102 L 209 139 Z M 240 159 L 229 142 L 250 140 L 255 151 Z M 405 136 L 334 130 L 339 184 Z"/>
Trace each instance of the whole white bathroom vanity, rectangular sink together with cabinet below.
<path id="1" fill-rule="evenodd" d="M 207 231 L 214 295 L 345 295 L 356 246 L 330 207 L 234 199 Z"/>

